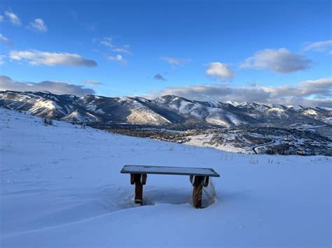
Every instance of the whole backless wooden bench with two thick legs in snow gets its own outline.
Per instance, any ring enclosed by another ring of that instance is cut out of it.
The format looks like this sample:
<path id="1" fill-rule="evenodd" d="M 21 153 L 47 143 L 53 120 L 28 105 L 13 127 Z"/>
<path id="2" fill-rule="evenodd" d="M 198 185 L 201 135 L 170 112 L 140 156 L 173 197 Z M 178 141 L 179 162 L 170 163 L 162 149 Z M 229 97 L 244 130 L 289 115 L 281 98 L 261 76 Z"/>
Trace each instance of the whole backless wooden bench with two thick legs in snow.
<path id="1" fill-rule="evenodd" d="M 193 184 L 193 206 L 202 207 L 202 189 L 209 185 L 209 177 L 220 177 L 212 168 L 170 166 L 123 166 L 120 173 L 130 174 L 130 184 L 135 184 L 134 202 L 143 205 L 143 185 L 148 174 L 188 175 Z"/>

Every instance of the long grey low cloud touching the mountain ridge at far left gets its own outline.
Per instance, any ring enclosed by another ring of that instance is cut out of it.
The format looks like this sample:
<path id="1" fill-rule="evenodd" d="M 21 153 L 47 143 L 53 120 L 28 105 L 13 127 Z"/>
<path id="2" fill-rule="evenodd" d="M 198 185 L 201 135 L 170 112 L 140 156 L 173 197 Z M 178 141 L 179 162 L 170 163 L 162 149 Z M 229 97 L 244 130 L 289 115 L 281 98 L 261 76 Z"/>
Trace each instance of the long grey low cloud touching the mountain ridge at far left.
<path id="1" fill-rule="evenodd" d="M 84 88 L 81 85 L 71 85 L 68 82 L 18 82 L 5 75 L 0 75 L 0 90 L 18 92 L 41 92 L 46 90 L 54 94 L 73 94 L 76 96 L 95 94 L 93 89 Z"/>

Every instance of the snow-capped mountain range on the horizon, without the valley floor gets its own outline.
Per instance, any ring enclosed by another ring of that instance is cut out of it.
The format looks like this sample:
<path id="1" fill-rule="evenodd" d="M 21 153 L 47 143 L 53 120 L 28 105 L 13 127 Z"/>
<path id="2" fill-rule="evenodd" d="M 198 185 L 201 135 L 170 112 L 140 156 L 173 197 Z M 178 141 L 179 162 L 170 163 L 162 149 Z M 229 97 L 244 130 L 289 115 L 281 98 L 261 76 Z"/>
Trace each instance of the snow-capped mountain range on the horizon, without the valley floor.
<path id="1" fill-rule="evenodd" d="M 56 95 L 50 92 L 0 92 L 0 106 L 39 117 L 70 122 L 146 126 L 275 126 L 331 125 L 331 108 L 264 105 L 228 101 L 193 101 L 179 96 L 104 97 Z"/>

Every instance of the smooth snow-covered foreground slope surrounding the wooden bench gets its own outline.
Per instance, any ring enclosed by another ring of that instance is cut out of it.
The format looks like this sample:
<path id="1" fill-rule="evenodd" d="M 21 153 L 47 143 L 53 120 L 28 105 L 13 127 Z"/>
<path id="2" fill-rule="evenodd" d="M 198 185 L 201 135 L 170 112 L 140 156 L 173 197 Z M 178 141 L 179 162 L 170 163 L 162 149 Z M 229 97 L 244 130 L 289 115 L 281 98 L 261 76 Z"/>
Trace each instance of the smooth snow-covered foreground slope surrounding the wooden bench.
<path id="1" fill-rule="evenodd" d="M 4 109 L 0 135 L 0 247 L 331 247 L 331 158 L 44 126 Z M 125 164 L 214 168 L 216 200 L 196 210 L 188 177 L 148 175 L 135 206 Z"/>

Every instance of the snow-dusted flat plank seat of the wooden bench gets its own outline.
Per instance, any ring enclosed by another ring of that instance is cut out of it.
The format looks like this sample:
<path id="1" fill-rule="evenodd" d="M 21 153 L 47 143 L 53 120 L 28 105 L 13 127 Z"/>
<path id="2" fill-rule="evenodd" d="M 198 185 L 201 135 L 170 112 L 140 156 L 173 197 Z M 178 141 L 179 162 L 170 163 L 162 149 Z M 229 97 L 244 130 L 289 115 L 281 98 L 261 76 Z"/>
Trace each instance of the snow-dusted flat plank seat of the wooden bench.
<path id="1" fill-rule="evenodd" d="M 191 168 L 172 166 L 123 166 L 120 173 L 162 174 L 162 175 L 199 175 L 205 177 L 220 177 L 212 168 Z"/>

